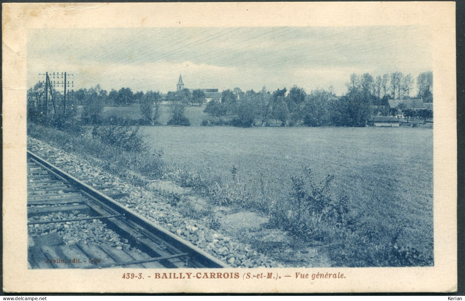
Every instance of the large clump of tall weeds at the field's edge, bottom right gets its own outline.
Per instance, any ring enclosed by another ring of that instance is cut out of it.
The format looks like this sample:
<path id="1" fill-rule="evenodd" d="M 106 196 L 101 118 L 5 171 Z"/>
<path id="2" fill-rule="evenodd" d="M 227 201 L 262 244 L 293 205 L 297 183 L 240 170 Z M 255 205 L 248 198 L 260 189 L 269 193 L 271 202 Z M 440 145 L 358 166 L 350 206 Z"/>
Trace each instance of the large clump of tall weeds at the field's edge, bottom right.
<path id="1" fill-rule="evenodd" d="M 292 176 L 288 197 L 271 209 L 270 223 L 310 243 L 322 244 L 337 267 L 432 265 L 432 256 L 399 239 L 405 226 L 363 227 L 369 212 L 355 215 L 345 195 L 331 193 L 333 175 L 315 181 L 312 170 Z"/>

